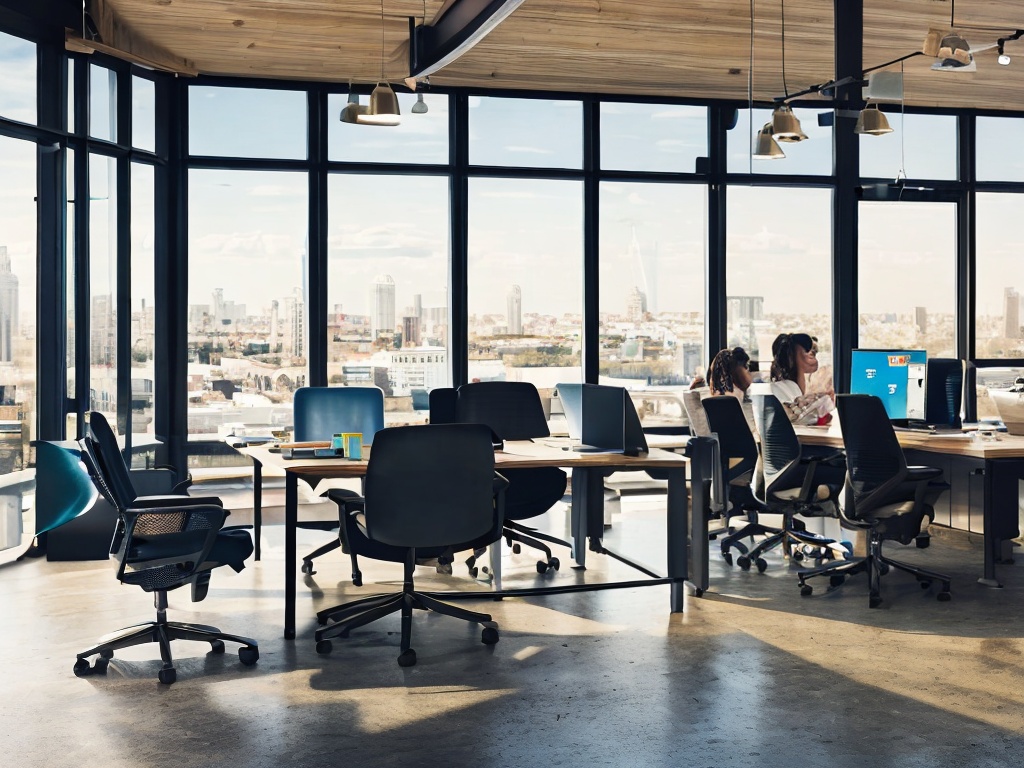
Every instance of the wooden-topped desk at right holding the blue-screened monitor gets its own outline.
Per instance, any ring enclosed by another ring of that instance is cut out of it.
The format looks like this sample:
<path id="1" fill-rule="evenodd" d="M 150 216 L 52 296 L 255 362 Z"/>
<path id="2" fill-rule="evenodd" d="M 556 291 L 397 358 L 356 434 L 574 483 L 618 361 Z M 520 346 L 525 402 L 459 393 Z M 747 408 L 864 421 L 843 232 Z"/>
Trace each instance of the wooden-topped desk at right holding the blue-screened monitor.
<path id="1" fill-rule="evenodd" d="M 843 446 L 838 424 L 823 427 L 797 428 L 800 441 L 808 445 Z M 1010 540 L 1020 536 L 1020 482 L 1024 480 L 1024 437 L 996 434 L 998 439 L 980 440 L 970 436 L 948 436 L 904 432 L 896 437 L 908 454 L 910 464 L 916 463 L 915 452 L 938 454 L 962 460 L 972 460 L 984 475 L 982 504 L 982 535 L 985 553 L 984 569 L 979 583 L 1001 587 L 995 577 L 997 563 L 1012 563 Z M 924 457 L 927 461 L 927 456 Z"/>

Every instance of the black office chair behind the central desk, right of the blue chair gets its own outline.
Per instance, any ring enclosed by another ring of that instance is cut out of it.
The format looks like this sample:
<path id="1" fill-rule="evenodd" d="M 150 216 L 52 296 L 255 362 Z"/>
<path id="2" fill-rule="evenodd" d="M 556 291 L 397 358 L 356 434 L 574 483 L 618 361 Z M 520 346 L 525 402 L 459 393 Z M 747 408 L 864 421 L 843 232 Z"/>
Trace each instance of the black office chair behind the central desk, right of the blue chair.
<path id="1" fill-rule="evenodd" d="M 431 415 L 433 421 L 433 415 Z M 464 384 L 456 397 L 456 421 L 460 424 L 486 424 L 499 440 L 529 440 L 549 437 L 548 422 L 537 387 L 520 381 L 485 381 Z M 510 469 L 503 473 L 509 481 L 505 494 L 505 540 L 513 552 L 521 546 L 544 554 L 537 561 L 537 571 L 558 570 L 561 562 L 551 554 L 549 544 L 571 550 L 572 545 L 556 537 L 523 525 L 521 520 L 543 515 L 565 496 L 568 475 L 557 467 Z M 471 572 L 479 553 L 470 558 Z"/>

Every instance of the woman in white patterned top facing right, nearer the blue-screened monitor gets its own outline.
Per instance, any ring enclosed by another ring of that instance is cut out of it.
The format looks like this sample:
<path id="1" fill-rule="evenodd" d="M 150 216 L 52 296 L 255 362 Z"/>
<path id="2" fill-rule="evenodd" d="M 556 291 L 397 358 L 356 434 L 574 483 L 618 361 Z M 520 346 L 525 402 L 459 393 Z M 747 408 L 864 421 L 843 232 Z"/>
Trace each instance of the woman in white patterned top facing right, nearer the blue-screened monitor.
<path id="1" fill-rule="evenodd" d="M 807 376 L 818 370 L 816 341 L 808 334 L 779 334 L 771 345 L 771 391 L 794 424 L 831 421 L 831 393 L 807 391 Z"/>

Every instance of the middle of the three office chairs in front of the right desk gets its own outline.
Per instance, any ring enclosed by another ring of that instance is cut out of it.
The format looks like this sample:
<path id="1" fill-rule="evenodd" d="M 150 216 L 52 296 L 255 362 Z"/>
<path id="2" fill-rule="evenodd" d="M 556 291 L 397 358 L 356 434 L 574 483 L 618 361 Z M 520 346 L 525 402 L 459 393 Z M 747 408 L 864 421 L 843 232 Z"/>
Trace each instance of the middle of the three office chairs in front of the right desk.
<path id="1" fill-rule="evenodd" d="M 766 538 L 749 553 L 737 557 L 736 564 L 746 570 L 753 563 L 764 572 L 768 563 L 763 555 L 780 545 L 785 554 L 795 560 L 802 560 L 805 556 L 824 559 L 845 555 L 845 546 L 838 545 L 833 539 L 809 534 L 804 522 L 797 518 L 797 515 L 837 515 L 839 485 L 821 482 L 817 470 L 822 457 L 803 460 L 797 433 L 775 395 L 755 394 L 753 400 L 754 420 L 761 436 L 761 458 L 754 471 L 752 487 L 755 497 L 767 507 L 768 512 L 782 516 L 782 525 L 780 528 L 769 528 L 760 523 L 749 526 L 765 532 Z M 743 421 L 745 426 L 745 419 Z M 746 528 L 743 528 L 738 535 L 745 535 L 745 531 Z M 794 549 L 794 545 L 798 548 Z M 722 546 L 725 547 L 725 542 Z"/>

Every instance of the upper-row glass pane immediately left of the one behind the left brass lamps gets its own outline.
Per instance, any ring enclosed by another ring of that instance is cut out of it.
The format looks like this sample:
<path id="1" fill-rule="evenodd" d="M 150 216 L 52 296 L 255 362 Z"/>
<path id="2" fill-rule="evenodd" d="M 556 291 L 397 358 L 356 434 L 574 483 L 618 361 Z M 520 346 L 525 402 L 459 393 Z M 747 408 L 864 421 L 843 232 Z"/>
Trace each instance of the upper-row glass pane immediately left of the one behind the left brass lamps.
<path id="1" fill-rule="evenodd" d="M 306 92 L 190 87 L 188 152 L 229 158 L 305 159 Z"/>

